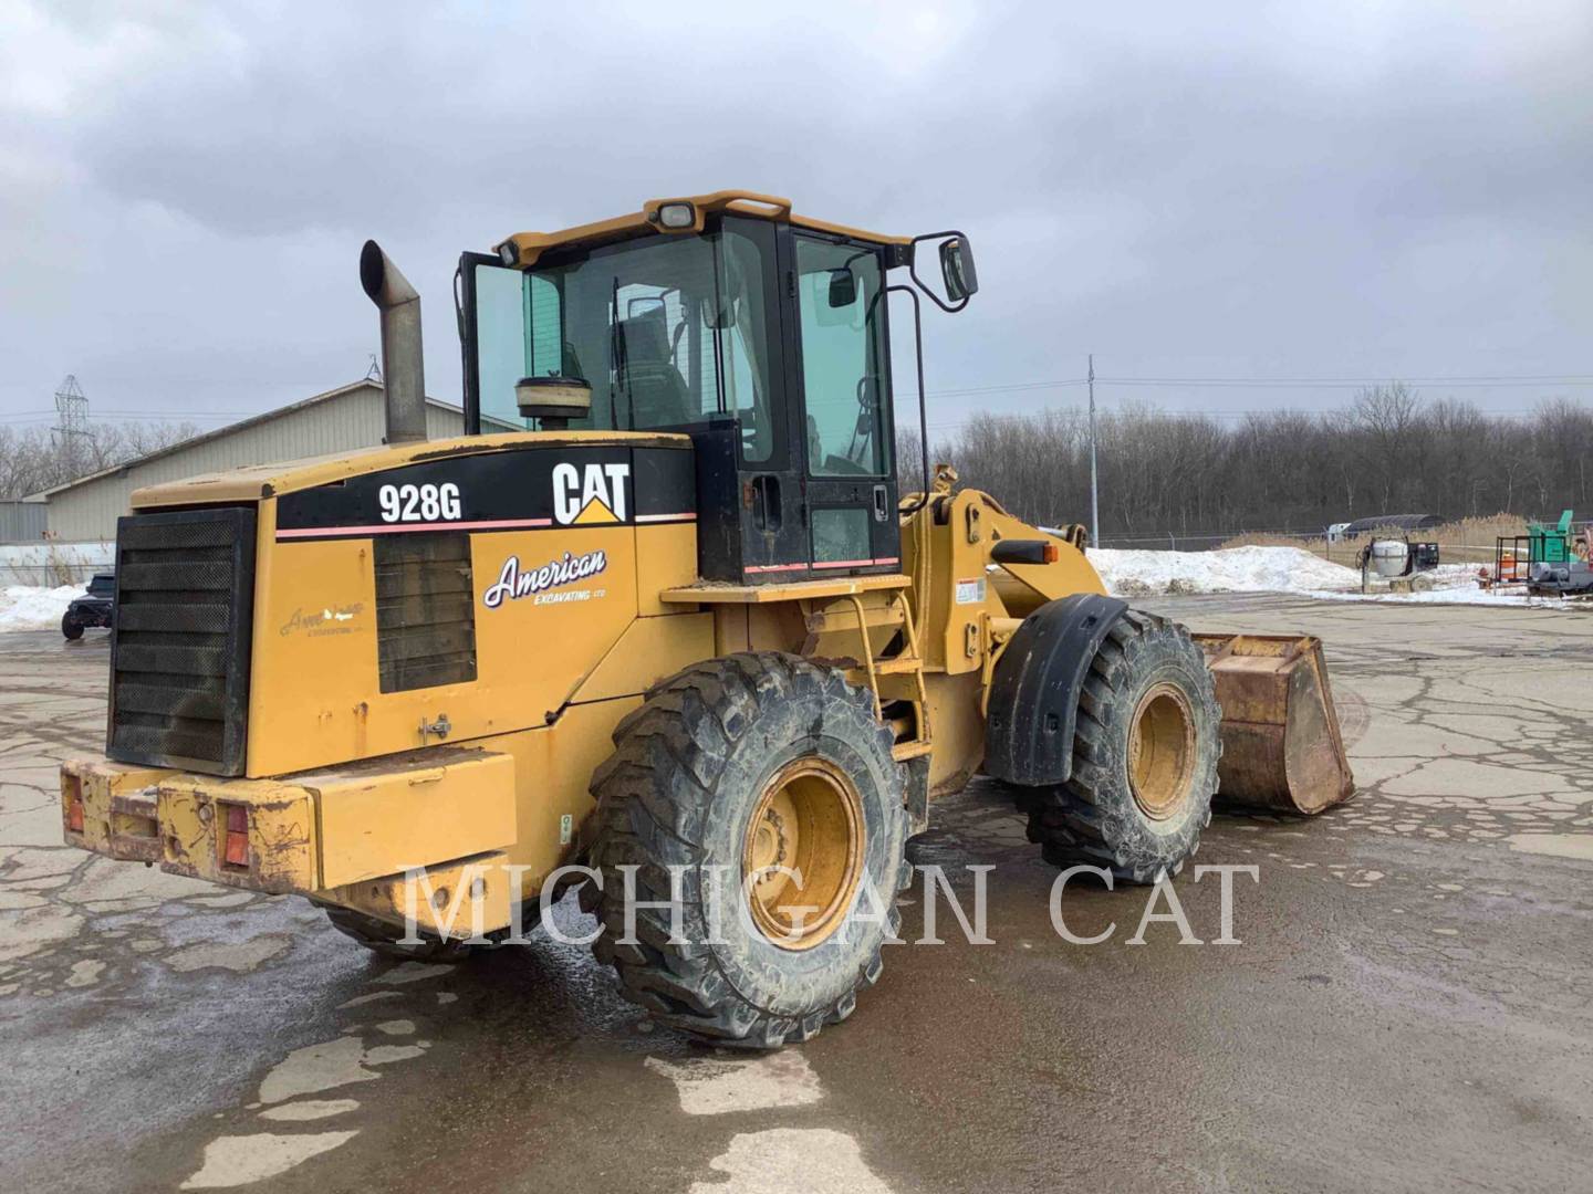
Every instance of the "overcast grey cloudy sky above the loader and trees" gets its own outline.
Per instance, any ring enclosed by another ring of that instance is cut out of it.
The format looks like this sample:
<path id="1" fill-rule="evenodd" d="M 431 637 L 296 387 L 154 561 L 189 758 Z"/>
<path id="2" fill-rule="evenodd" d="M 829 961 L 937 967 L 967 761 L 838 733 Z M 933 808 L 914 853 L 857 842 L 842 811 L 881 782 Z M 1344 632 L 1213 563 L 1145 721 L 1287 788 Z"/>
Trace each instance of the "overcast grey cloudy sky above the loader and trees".
<path id="1" fill-rule="evenodd" d="M 48 423 L 68 373 L 99 416 L 204 425 L 358 379 L 368 236 L 457 401 L 460 250 L 726 186 L 969 232 L 981 293 L 926 318 L 940 430 L 1080 401 L 1035 387 L 1090 352 L 1106 377 L 1593 398 L 1590 78 L 1588 0 L 5 0 L 0 425 Z"/>

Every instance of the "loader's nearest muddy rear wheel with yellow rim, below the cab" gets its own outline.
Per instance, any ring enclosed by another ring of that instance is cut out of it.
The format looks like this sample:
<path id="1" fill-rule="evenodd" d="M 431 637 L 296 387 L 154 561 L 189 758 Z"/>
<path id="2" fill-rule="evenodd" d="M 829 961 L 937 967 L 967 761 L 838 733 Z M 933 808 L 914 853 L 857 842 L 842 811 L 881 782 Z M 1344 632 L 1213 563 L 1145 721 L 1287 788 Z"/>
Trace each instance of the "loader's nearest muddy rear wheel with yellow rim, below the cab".
<path id="1" fill-rule="evenodd" d="M 613 742 L 593 777 L 602 888 L 586 884 L 581 903 L 620 992 L 664 1024 L 753 1049 L 846 1019 L 879 977 L 911 874 L 902 769 L 873 697 L 796 656 L 733 654 L 664 681 Z M 667 909 L 637 907 L 624 942 L 631 866 L 639 904 L 667 901 L 680 876 L 683 941 L 671 942 Z M 779 872 L 747 882 L 771 866 L 800 887 Z"/>

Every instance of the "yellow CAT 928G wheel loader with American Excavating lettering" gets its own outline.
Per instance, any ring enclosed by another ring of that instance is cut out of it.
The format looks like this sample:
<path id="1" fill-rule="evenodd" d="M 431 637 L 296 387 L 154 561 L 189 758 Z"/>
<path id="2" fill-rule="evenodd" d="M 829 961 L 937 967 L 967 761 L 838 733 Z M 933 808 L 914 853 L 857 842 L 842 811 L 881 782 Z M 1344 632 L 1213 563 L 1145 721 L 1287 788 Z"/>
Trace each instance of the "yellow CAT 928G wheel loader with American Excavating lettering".
<path id="1" fill-rule="evenodd" d="M 626 997 L 766 1048 L 852 1011 L 906 839 L 978 771 L 1048 860 L 1133 882 L 1195 852 L 1219 775 L 1274 807 L 1349 794 L 1314 640 L 1129 610 L 1082 527 L 927 454 L 897 492 L 889 318 L 916 339 L 921 295 L 967 306 L 962 234 L 720 191 L 465 253 L 470 433 L 430 443 L 419 296 L 374 242 L 360 279 L 387 443 L 153 486 L 121 519 L 68 842 L 299 893 L 413 955 L 578 884 Z M 639 903 L 671 896 L 683 933 Z"/>

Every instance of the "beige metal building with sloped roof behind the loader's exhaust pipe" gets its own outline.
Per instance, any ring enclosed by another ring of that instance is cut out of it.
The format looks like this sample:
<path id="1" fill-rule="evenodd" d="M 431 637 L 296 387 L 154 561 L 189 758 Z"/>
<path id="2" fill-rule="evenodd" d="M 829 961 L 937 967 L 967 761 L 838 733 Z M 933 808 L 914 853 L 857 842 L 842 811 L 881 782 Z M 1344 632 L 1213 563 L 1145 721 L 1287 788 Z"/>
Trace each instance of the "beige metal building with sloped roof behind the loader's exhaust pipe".
<path id="1" fill-rule="evenodd" d="M 425 400 L 432 439 L 464 435 L 464 411 Z M 45 498 L 49 537 L 61 543 L 116 538 L 135 489 L 242 465 L 347 452 L 382 443 L 386 414 L 381 382 L 360 380 L 301 403 L 185 439 L 147 457 L 35 494 Z"/>

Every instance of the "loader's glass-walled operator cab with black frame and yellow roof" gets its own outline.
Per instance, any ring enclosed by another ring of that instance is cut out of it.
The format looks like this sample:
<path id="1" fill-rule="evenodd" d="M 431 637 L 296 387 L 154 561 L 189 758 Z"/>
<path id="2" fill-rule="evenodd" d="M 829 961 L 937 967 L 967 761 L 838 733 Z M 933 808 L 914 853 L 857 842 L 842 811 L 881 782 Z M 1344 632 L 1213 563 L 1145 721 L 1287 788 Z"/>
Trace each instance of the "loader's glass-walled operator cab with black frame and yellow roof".
<path id="1" fill-rule="evenodd" d="M 887 275 L 911 253 L 741 193 L 465 253 L 467 427 L 691 436 L 704 579 L 894 572 Z M 589 411 L 523 408 L 523 379 L 580 379 Z"/>

